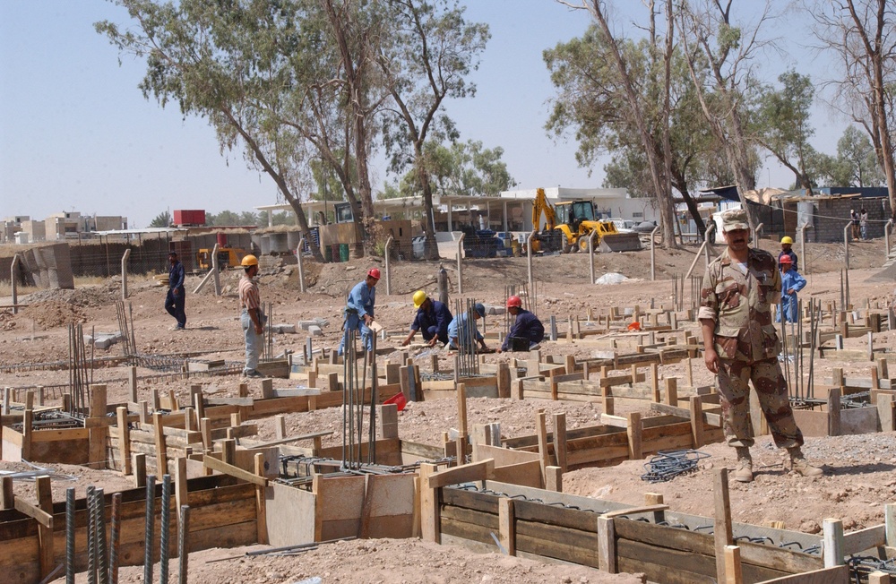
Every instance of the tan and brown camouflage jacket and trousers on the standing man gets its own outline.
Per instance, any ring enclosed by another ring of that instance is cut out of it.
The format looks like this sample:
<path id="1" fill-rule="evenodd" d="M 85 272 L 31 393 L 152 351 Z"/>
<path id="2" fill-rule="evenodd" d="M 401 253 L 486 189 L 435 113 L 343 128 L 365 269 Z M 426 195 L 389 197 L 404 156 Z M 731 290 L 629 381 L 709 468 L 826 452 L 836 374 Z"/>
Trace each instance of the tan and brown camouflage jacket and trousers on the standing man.
<path id="1" fill-rule="evenodd" d="M 753 445 L 748 423 L 752 380 L 775 443 L 788 449 L 802 446 L 803 434 L 794 422 L 778 364 L 780 341 L 769 306 L 780 298 L 778 262 L 771 253 L 751 248 L 746 268 L 745 274 L 726 248 L 706 270 L 697 314 L 700 320 L 715 322 L 725 437 L 729 446 Z"/>

